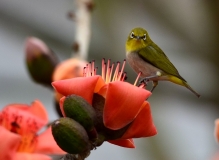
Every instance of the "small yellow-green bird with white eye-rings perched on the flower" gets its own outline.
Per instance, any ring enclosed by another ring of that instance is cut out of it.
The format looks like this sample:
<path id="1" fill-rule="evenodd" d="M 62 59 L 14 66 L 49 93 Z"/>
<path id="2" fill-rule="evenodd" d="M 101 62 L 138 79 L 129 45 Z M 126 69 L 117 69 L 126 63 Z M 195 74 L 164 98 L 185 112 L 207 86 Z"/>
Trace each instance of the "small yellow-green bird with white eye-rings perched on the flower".
<path id="1" fill-rule="evenodd" d="M 153 88 L 158 81 L 171 81 L 195 92 L 186 80 L 180 76 L 175 66 L 170 62 L 164 52 L 150 39 L 148 32 L 143 28 L 134 28 L 126 41 L 126 59 L 136 73 L 146 81 L 153 81 Z"/>

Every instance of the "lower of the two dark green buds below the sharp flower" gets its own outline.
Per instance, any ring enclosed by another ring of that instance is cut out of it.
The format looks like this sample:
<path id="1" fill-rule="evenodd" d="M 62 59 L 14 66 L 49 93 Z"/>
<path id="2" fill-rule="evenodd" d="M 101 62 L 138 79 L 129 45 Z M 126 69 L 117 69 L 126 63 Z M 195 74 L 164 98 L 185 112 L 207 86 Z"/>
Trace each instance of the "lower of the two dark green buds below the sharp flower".
<path id="1" fill-rule="evenodd" d="M 52 135 L 58 146 L 70 154 L 83 154 L 92 149 L 85 129 L 71 118 L 56 120 L 52 124 Z"/>

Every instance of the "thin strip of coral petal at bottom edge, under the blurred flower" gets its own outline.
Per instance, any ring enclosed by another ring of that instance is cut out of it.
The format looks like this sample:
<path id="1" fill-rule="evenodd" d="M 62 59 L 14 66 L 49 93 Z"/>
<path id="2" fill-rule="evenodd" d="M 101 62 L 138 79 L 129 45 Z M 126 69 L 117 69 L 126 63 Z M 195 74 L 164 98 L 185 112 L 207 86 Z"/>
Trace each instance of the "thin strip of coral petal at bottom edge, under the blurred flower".
<path id="1" fill-rule="evenodd" d="M 52 160 L 52 158 L 43 154 L 17 152 L 13 160 Z"/>

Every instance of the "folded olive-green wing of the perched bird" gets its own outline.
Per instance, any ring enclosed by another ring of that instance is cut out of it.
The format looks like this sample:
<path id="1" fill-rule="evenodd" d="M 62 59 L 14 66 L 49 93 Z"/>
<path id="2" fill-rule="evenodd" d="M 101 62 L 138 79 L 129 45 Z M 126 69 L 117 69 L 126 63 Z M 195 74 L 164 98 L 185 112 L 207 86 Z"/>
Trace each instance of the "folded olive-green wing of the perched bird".
<path id="1" fill-rule="evenodd" d="M 186 80 L 180 76 L 179 72 L 170 62 L 168 57 L 156 44 L 148 45 L 147 47 L 141 49 L 138 54 L 149 64 L 157 67 L 167 74 L 176 76 L 186 82 Z"/>

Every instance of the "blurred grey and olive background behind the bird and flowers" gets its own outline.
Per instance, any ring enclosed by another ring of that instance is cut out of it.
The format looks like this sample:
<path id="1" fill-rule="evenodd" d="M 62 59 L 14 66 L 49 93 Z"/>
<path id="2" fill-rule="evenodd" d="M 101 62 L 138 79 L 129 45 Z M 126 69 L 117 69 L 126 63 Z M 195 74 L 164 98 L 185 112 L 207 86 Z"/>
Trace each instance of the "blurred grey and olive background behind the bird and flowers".
<path id="1" fill-rule="evenodd" d="M 158 135 L 136 139 L 136 149 L 104 143 L 88 160 L 210 160 L 219 152 L 213 136 L 219 118 L 219 4 L 205 0 L 94 0 L 88 60 L 123 61 L 134 27 L 147 29 L 180 74 L 201 94 L 160 82 L 149 99 Z M 72 54 L 73 0 L 0 0 L 0 108 L 39 99 L 50 120 L 58 118 L 53 91 L 34 83 L 27 72 L 24 41 L 42 39 L 61 60 Z M 100 66 L 99 66 L 100 68 Z M 128 81 L 136 73 L 126 65 Z M 144 124 L 142 124 L 144 125 Z M 218 157 L 219 159 L 219 157 Z"/>

